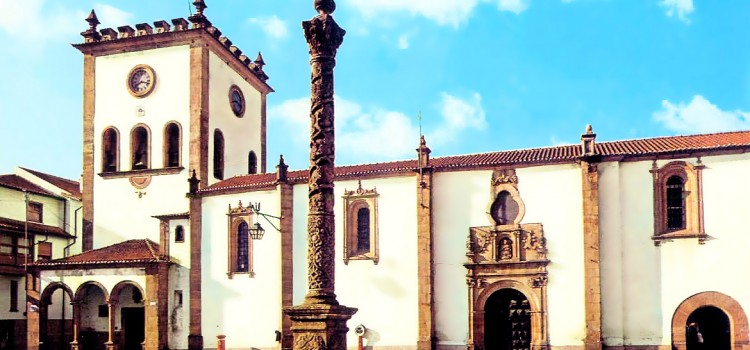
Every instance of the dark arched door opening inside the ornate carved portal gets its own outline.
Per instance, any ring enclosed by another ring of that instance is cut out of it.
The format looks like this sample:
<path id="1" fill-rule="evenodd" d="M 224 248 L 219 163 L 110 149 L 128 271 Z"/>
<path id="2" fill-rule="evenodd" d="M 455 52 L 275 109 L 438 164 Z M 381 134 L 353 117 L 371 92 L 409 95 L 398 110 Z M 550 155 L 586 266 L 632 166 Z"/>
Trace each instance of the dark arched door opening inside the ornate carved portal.
<path id="1" fill-rule="evenodd" d="M 484 348 L 528 350 L 531 346 L 531 308 L 523 293 L 504 288 L 484 305 Z"/>

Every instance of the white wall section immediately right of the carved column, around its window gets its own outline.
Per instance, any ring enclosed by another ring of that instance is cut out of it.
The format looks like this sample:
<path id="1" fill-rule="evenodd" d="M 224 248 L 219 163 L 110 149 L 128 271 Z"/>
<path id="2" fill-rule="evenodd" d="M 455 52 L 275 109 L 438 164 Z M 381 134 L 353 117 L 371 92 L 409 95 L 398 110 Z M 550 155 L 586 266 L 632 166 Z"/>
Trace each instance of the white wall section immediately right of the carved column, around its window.
<path id="1" fill-rule="evenodd" d="M 341 304 L 359 309 L 348 325 L 350 330 L 358 324 L 367 327 L 365 346 L 413 347 L 419 326 L 416 177 L 362 180 L 363 189 L 373 187 L 379 194 L 377 244 L 380 261 L 375 265 L 371 260 L 350 260 L 345 265 L 342 196 L 344 190 L 356 190 L 358 184 L 356 180 L 336 182 L 336 295 Z M 307 188 L 304 190 L 307 193 Z M 356 346 L 357 337 L 353 331 L 348 333 L 347 343 Z"/>

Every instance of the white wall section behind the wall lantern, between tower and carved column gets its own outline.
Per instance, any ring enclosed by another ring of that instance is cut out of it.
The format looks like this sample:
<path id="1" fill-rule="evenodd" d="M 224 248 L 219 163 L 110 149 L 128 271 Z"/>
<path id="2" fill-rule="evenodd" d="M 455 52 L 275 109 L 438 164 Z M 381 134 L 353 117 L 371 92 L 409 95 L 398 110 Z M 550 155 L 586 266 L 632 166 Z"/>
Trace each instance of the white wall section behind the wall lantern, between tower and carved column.
<path id="1" fill-rule="evenodd" d="M 279 200 L 275 189 L 203 200 L 201 288 L 206 348 L 217 346 L 219 334 L 227 336 L 227 348 L 272 348 L 278 344 L 274 331 L 281 328 L 281 235 L 261 218 L 265 236 L 250 243 L 255 275 L 236 273 L 229 279 L 227 213 L 230 204 L 260 202 L 261 212 L 280 216 Z M 278 221 L 274 224 L 278 227 Z"/>

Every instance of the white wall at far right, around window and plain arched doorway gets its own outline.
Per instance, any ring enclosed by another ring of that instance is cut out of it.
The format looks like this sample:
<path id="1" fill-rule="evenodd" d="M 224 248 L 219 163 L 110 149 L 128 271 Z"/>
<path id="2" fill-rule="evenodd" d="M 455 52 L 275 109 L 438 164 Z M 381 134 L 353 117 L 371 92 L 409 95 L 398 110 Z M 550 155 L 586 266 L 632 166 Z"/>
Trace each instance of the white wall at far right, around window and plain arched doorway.
<path id="1" fill-rule="evenodd" d="M 669 345 L 676 308 L 697 293 L 721 292 L 750 308 L 742 278 L 750 263 L 744 249 L 750 245 L 750 187 L 743 179 L 748 159 L 746 154 L 702 158 L 704 222 L 715 238 L 705 245 L 693 238 L 654 246 L 651 161 L 600 166 L 606 344 Z M 696 164 L 695 158 L 682 160 Z"/>

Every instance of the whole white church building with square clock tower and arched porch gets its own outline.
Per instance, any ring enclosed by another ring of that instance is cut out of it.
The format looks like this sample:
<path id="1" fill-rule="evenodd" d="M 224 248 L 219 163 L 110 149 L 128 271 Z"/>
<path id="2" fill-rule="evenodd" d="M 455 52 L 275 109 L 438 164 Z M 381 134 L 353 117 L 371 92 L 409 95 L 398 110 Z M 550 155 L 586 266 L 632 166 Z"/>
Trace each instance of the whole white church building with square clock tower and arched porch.
<path id="1" fill-rule="evenodd" d="M 194 4 L 135 28 L 86 19 L 81 252 L 28 265 L 30 349 L 292 346 L 310 173 L 267 152 L 262 56 Z M 446 157 L 423 137 L 413 159 L 337 166 L 349 347 L 750 349 L 750 131 L 581 129 Z"/>

